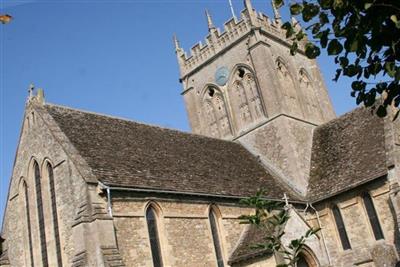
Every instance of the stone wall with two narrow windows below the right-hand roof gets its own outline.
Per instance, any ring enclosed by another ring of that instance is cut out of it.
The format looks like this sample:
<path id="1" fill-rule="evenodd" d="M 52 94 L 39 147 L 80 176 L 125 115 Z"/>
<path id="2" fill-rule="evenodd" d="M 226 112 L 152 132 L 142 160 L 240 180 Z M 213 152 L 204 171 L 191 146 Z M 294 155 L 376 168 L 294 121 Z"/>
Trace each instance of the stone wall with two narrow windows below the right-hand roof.
<path id="1" fill-rule="evenodd" d="M 384 240 L 375 240 L 372 226 L 361 194 L 369 192 L 384 234 Z M 331 207 L 337 205 L 343 217 L 351 249 L 343 250 Z M 332 266 L 384 266 L 382 254 L 386 253 L 386 266 L 396 262 L 394 214 L 391 211 L 389 185 L 385 180 L 376 181 L 352 192 L 344 193 L 316 205 L 322 233 Z M 318 226 L 317 217 L 308 216 L 308 222 Z"/>

